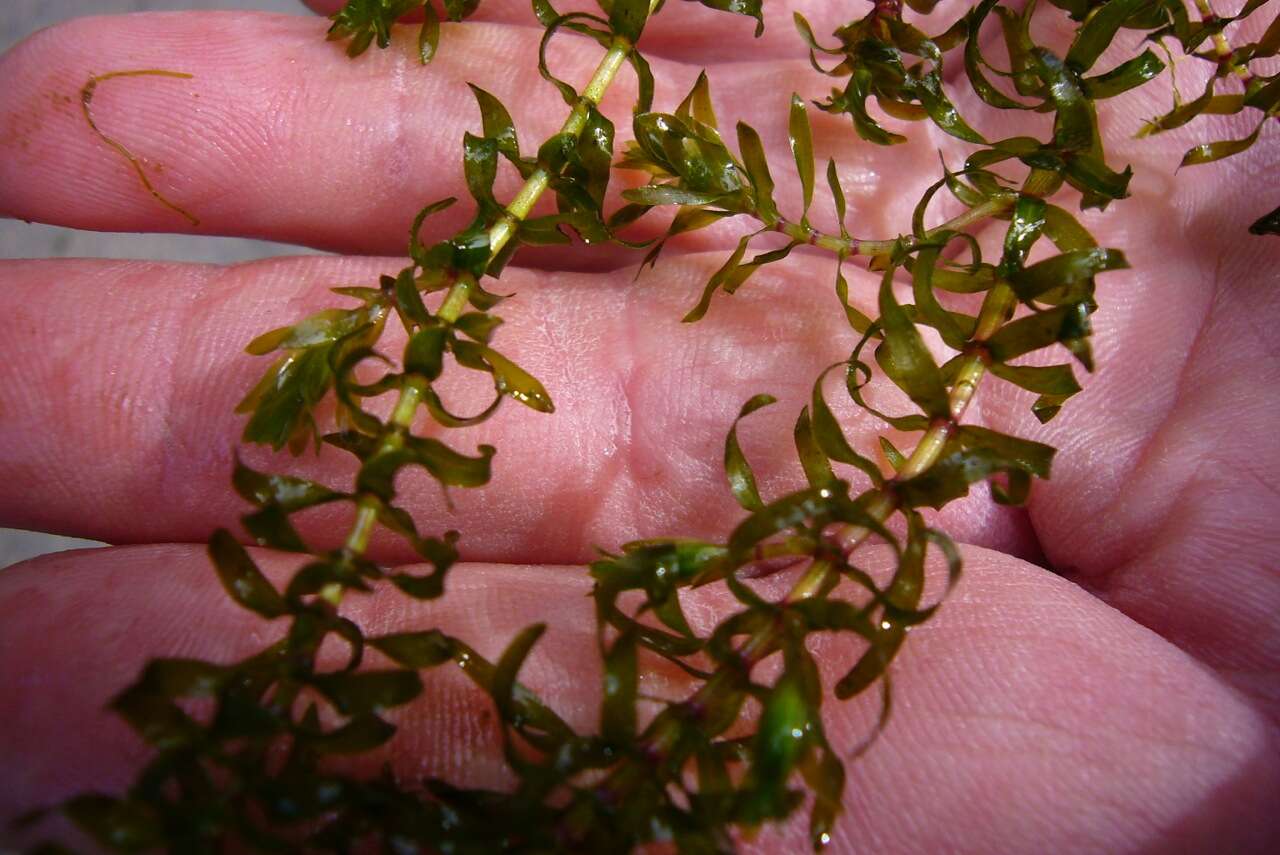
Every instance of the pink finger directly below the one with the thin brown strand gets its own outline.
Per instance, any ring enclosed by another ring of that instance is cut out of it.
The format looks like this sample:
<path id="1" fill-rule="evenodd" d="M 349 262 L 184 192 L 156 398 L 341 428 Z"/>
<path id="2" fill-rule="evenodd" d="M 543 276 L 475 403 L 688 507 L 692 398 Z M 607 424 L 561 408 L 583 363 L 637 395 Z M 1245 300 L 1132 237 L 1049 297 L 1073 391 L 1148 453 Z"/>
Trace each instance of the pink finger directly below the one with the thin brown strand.
<path id="1" fill-rule="evenodd" d="M 703 321 L 681 324 L 719 262 L 718 255 L 672 257 L 637 282 L 634 271 L 509 270 L 502 287 L 516 297 L 498 310 L 507 324 L 494 347 L 545 384 L 557 411 L 508 401 L 484 425 L 447 431 L 466 453 L 483 443 L 499 449 L 493 481 L 454 490 L 451 512 L 425 475 L 406 475 L 404 507 L 426 531 L 458 529 L 468 555 L 494 561 L 588 561 L 595 547 L 634 538 L 723 538 L 740 518 L 721 470 L 724 435 L 742 402 L 762 392 L 780 404 L 744 422 L 745 448 L 765 495 L 800 486 L 792 425 L 814 378 L 847 358 L 856 334 L 832 294 L 829 262 L 808 255 L 763 269 L 732 297 L 717 298 Z M 394 265 L 356 259 L 229 269 L 0 265 L 0 310 L 22 319 L 4 326 L 0 347 L 28 355 L 0 362 L 0 479 L 22 486 L 0 494 L 0 516 L 114 543 L 198 541 L 215 526 L 234 526 L 246 508 L 227 486 L 243 426 L 233 408 L 270 365 L 242 346 L 347 302 L 328 287 L 376 282 L 388 269 Z M 872 274 L 852 280 L 865 311 L 877 284 Z M 383 349 L 398 357 L 402 342 L 393 321 Z M 488 375 L 458 366 L 439 388 L 461 413 L 481 411 L 494 394 Z M 845 406 L 837 389 L 832 379 L 828 399 L 855 445 L 876 458 L 881 425 Z M 891 389 L 877 379 L 870 396 L 905 410 Z M 425 413 L 419 430 L 442 433 Z M 349 456 L 333 448 L 297 461 L 247 454 L 257 468 L 342 490 L 352 484 Z M 1019 513 L 997 509 L 986 493 L 945 513 L 957 536 L 1034 554 Z M 346 507 L 317 508 L 300 522 L 330 543 L 340 540 L 347 515 Z"/>

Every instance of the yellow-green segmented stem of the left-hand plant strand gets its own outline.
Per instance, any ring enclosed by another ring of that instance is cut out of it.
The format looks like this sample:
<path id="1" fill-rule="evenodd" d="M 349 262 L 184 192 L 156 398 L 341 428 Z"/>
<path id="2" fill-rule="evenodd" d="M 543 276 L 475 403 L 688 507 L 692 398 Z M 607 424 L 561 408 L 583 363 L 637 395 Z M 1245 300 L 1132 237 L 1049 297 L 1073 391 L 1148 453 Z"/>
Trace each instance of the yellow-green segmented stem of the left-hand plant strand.
<path id="1" fill-rule="evenodd" d="M 649 4 L 649 14 L 653 14 L 660 1 L 662 0 L 653 0 Z M 627 38 L 622 36 L 613 37 L 608 52 L 604 54 L 604 58 L 600 59 L 599 65 L 596 65 L 595 73 L 591 76 L 586 88 L 582 90 L 579 102 L 573 106 L 568 118 L 564 120 L 561 133 L 568 133 L 575 137 L 582 133 L 582 129 L 586 127 L 586 119 L 590 110 L 599 105 L 599 102 L 604 99 L 604 93 L 613 83 L 613 79 L 618 76 L 618 72 L 626 63 L 631 50 L 632 45 Z M 544 168 L 535 169 L 534 173 L 525 180 L 520 192 L 516 193 L 515 198 L 512 198 L 511 204 L 507 205 L 504 216 L 502 216 L 489 229 L 490 261 L 495 259 L 507 243 L 509 243 L 516 236 L 520 221 L 529 216 L 530 211 L 534 210 L 534 205 L 538 204 L 538 200 L 541 198 L 543 193 L 550 186 L 550 173 L 548 173 Z M 458 276 L 445 294 L 444 302 L 440 303 L 440 308 L 436 311 L 436 317 L 447 324 L 456 321 L 458 316 L 462 315 L 463 310 L 466 310 L 474 285 L 475 283 L 470 276 Z M 413 424 L 413 416 L 417 413 L 417 407 L 421 403 L 421 389 L 412 383 L 406 384 L 401 389 L 399 398 L 396 402 L 390 424 L 398 429 L 408 430 Z M 383 439 L 380 451 L 393 451 L 399 442 L 402 442 L 399 430 L 393 430 Z M 352 525 L 351 534 L 347 536 L 346 548 L 355 554 L 362 554 L 369 548 L 369 538 L 372 535 L 374 526 L 376 523 L 376 499 L 361 498 L 356 503 L 356 521 Z M 332 585 L 321 591 L 321 596 L 337 605 L 342 600 L 342 587 Z"/>

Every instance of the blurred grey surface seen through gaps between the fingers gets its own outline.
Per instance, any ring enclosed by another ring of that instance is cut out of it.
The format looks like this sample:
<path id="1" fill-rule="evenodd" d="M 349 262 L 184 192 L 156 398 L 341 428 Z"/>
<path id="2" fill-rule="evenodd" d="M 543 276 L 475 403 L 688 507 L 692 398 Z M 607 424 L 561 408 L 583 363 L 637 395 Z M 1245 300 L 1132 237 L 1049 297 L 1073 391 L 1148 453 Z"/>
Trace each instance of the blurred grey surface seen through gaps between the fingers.
<path id="1" fill-rule="evenodd" d="M 260 9 L 310 14 L 300 0 L 0 0 L 0 52 L 44 27 L 83 15 L 178 9 Z M 156 259 L 234 264 L 273 255 L 297 255 L 287 247 L 246 238 L 183 234 L 105 234 L 0 219 L 0 259 L 92 257 Z M 6 355 L 13 358 L 14 355 Z M 3 489 L 20 490 L 20 484 Z M 0 529 L 0 567 L 59 549 L 96 545 L 88 540 Z"/>

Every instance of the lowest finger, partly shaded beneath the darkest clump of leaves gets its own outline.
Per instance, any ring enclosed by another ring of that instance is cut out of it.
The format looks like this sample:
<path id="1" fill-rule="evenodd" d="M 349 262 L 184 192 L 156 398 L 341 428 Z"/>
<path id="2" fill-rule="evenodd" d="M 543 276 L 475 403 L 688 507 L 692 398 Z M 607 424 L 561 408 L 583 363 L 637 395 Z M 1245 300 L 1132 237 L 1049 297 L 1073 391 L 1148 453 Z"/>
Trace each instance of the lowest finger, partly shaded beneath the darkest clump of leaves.
<path id="1" fill-rule="evenodd" d="M 204 561 L 187 547 L 113 549 L 0 576 L 0 640 L 10 651 L 0 676 L 19 687 L 0 696 L 0 814 L 129 783 L 146 753 L 102 704 L 147 655 L 229 662 L 278 637 L 283 627 L 223 598 Z M 849 768 L 833 851 L 1152 851 L 1171 841 L 1263 851 L 1274 842 L 1266 794 L 1280 779 L 1261 715 L 1074 585 L 983 550 L 968 550 L 966 568 L 954 599 L 913 632 L 895 664 L 899 703 L 884 735 Z M 520 628 L 547 622 L 520 678 L 591 732 L 599 662 L 588 587 L 572 568 L 463 566 L 439 604 L 378 595 L 344 611 L 369 635 L 439 627 L 486 657 Z M 699 632 L 731 607 L 717 586 L 689 596 Z M 86 621 L 90 605 L 96 619 Z M 831 681 L 854 649 L 837 637 L 818 644 Z M 424 681 L 424 699 L 396 717 L 394 772 L 509 785 L 486 698 L 456 669 L 425 672 Z M 659 682 L 660 696 L 689 691 L 675 675 Z M 836 750 L 860 742 L 876 708 L 870 696 L 826 707 Z M 803 851 L 804 817 L 744 846 Z"/>

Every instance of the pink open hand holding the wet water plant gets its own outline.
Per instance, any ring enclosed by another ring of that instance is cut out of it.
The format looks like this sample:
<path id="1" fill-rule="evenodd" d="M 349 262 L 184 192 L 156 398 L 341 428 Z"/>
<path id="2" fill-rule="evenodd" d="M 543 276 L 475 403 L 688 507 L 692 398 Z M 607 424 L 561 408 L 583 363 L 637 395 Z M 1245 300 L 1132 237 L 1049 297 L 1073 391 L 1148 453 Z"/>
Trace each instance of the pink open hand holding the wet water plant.
<path id="1" fill-rule="evenodd" d="M 182 68 L 195 79 L 104 84 L 93 106 L 108 133 L 164 165 L 161 191 L 202 218 L 202 233 L 398 253 L 421 204 L 465 195 L 457 170 L 438 165 L 456 163 L 463 129 L 479 124 L 462 81 L 508 104 L 526 146 L 567 109 L 550 87 L 527 86 L 538 31 L 506 17 L 515 5 L 490 3 L 485 14 L 503 18 L 448 27 L 426 70 L 410 60 L 411 38 L 352 63 L 306 19 L 137 15 L 40 33 L 0 59 L 9 83 L 0 91 L 0 212 L 83 228 L 180 228 L 87 132 L 77 105 L 51 93 L 76 96 L 108 69 Z M 748 38 L 750 22 L 705 18 L 719 33 L 708 55 L 704 31 L 668 23 L 710 14 L 686 4 L 669 4 L 641 45 L 659 109 L 691 84 L 696 68 L 686 60 L 709 64 L 722 120 L 760 131 L 783 211 L 796 211 L 799 198 L 787 99 L 792 88 L 808 97 L 827 88 L 795 59 L 787 18 L 803 8 L 829 32 L 833 5 L 767 4 L 769 31 L 749 65 L 718 63 L 714 50 L 728 35 Z M 940 4 L 934 17 L 950 20 L 960 5 Z M 557 50 L 571 81 L 585 79 L 599 54 L 570 38 Z M 623 78 L 605 101 L 620 138 L 630 87 Z M 996 115 L 963 86 L 952 92 L 989 138 L 1023 127 L 1043 134 L 1042 116 Z M 850 765 L 833 851 L 1267 851 L 1280 841 L 1280 544 L 1268 525 L 1280 516 L 1271 430 L 1280 404 L 1270 392 L 1280 380 L 1280 241 L 1244 232 L 1276 204 L 1253 188 L 1274 184 L 1266 177 L 1280 166 L 1280 146 L 1265 133 L 1242 157 L 1175 177 L 1190 145 L 1242 133 L 1215 120 L 1132 140 L 1142 118 L 1165 109 L 1167 87 L 1153 83 L 1100 110 L 1110 161 L 1132 163 L 1135 177 L 1133 198 L 1082 215 L 1133 264 L 1100 278 L 1098 371 L 1043 426 L 1027 393 L 995 381 L 979 390 L 972 421 L 1060 448 L 1053 479 L 1037 484 L 1024 511 L 995 509 L 975 490 L 941 515 L 938 525 L 972 544 L 965 576 L 895 666 L 895 715 Z M 812 113 L 819 156 L 842 164 L 860 237 L 904 228 L 940 151 L 948 164 L 968 151 L 927 125 L 910 128 L 911 143 L 881 150 L 856 141 L 846 120 Z M 833 227 L 828 210 L 819 193 L 820 228 Z M 467 214 L 433 228 L 444 233 Z M 937 216 L 946 215 L 940 205 Z M 984 239 L 998 241 L 1000 229 L 988 227 Z M 517 296 L 499 308 L 507 325 L 495 344 L 545 383 L 556 416 L 509 404 L 480 429 L 453 431 L 461 449 L 499 449 L 494 484 L 454 491 L 456 513 L 425 480 L 401 484 L 422 530 L 457 526 L 467 561 L 498 563 L 458 567 L 436 604 L 352 598 L 367 631 L 440 626 L 495 655 L 521 627 L 547 621 L 553 628 L 522 680 L 572 724 L 593 726 L 599 666 L 588 584 L 563 564 L 636 536 L 723 536 L 740 516 L 719 472 L 723 435 L 758 392 L 780 403 L 744 424 L 744 445 L 767 495 L 796 486 L 791 422 L 813 378 L 852 343 L 831 294 L 831 261 L 808 252 L 717 298 L 700 324 L 681 325 L 736 234 L 692 236 L 637 282 L 634 259 L 617 250 L 517 256 L 499 288 Z M 10 355 L 0 361 L 0 483 L 12 485 L 0 523 L 174 544 L 68 553 L 0 573 L 0 686 L 17 689 L 0 692 L 0 817 L 127 786 L 142 754 L 101 707 L 148 655 L 230 659 L 275 637 L 279 627 L 218 593 L 201 547 L 182 545 L 242 511 L 227 488 L 242 425 L 230 411 L 265 361 L 241 348 L 261 330 L 340 305 L 328 287 L 399 264 L 0 264 L 0 311 L 10 319 L 0 329 Z M 607 273 L 563 271 L 582 269 Z M 855 264 L 846 275 L 855 303 L 870 310 L 876 276 Z M 384 349 L 396 353 L 401 342 L 392 330 Z M 485 403 L 475 383 L 451 393 L 458 410 Z M 874 394 L 902 406 L 883 384 Z M 879 427 L 841 397 L 828 388 L 869 452 Z M 246 458 L 349 483 L 340 456 Z M 303 530 L 324 543 L 346 520 L 316 516 Z M 403 558 L 390 543 L 375 553 Z M 278 579 L 287 572 L 282 558 L 260 557 Z M 781 595 L 787 581 L 782 573 L 762 585 Z M 714 587 L 690 596 L 703 631 L 728 608 Z M 836 640 L 815 653 L 828 680 L 854 655 Z M 657 682 L 655 694 L 682 694 L 673 675 Z M 448 673 L 429 675 L 426 694 L 401 722 L 397 771 L 500 783 L 483 696 Z M 872 698 L 832 701 L 833 742 L 855 746 L 874 712 Z M 744 841 L 745 851 L 803 846 L 803 818 Z"/>

